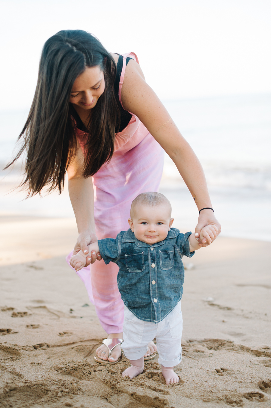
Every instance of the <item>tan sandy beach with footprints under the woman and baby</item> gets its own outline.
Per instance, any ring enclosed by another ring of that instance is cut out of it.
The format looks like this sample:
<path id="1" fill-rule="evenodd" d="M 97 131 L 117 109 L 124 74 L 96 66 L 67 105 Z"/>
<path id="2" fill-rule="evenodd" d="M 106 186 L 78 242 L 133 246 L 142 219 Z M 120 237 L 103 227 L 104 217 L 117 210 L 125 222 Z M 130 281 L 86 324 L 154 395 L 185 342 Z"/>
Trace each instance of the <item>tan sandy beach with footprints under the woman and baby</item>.
<path id="1" fill-rule="evenodd" d="M 73 218 L 1 217 L 1 407 L 271 407 L 271 243 L 219 237 L 186 259 L 180 382 L 95 363 L 106 333 L 65 262 Z M 260 403 L 260 405 L 259 405 Z"/>

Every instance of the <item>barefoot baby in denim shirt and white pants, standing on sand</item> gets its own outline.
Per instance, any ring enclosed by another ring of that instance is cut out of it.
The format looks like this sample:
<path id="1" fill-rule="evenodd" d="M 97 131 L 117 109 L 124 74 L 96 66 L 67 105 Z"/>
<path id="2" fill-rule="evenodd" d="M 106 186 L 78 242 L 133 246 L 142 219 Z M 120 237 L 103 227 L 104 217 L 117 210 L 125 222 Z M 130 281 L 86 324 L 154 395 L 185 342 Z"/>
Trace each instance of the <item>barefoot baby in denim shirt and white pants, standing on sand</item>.
<path id="1" fill-rule="evenodd" d="M 121 348 L 131 364 L 122 376 L 132 379 L 143 372 L 143 356 L 155 337 L 166 384 L 178 383 L 173 369 L 182 360 L 181 259 L 183 255 L 192 257 L 200 244 L 195 234 L 171 228 L 171 205 L 163 194 L 138 195 L 132 202 L 130 217 L 128 231 L 121 231 L 116 239 L 101 239 L 98 245 L 88 246 L 98 258 L 101 254 L 106 264 L 115 262 L 119 266 L 117 282 L 124 303 Z M 203 230 L 211 243 L 214 227 Z M 79 271 L 88 256 L 79 251 L 71 258 L 71 266 Z"/>

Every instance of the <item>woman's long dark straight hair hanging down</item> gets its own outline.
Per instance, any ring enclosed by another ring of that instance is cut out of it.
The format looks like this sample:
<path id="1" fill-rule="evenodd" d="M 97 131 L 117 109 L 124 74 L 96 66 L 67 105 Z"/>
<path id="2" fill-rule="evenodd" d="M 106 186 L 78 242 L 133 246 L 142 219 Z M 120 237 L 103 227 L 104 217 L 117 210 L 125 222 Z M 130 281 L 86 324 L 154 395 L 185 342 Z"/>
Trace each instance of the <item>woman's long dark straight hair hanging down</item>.
<path id="1" fill-rule="evenodd" d="M 28 195 L 44 186 L 61 193 L 65 173 L 77 150 L 75 123 L 69 103 L 71 89 L 86 67 L 99 66 L 104 72 L 105 90 L 91 109 L 85 140 L 83 176 L 90 177 L 111 159 L 119 105 L 113 91 L 116 64 L 93 35 L 83 30 L 63 30 L 49 38 L 42 49 L 37 87 L 29 116 L 18 140 L 24 144 L 7 165 L 26 150 L 25 179 Z M 7 168 L 6 167 L 6 168 Z"/>

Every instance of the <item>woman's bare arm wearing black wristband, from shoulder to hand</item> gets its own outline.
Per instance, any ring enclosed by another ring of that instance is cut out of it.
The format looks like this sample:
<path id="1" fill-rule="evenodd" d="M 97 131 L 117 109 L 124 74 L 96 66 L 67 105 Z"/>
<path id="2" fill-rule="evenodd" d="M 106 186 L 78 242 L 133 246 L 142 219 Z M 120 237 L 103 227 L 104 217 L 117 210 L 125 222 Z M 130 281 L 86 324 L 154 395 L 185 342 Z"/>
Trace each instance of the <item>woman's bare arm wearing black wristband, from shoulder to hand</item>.
<path id="1" fill-rule="evenodd" d="M 163 86 L 174 86 L 174 77 L 168 76 Z M 131 60 L 126 67 L 121 100 L 124 109 L 134 113 L 148 131 L 171 157 L 189 188 L 198 210 L 212 207 L 203 168 L 188 142 L 181 135 L 154 91 L 145 82 L 144 75 L 137 62 Z M 220 224 L 212 210 L 200 211 L 195 232 L 200 234 L 206 225 L 215 225 L 220 233 Z M 215 234 L 214 239 L 218 234 Z M 213 239 L 213 240 L 214 240 Z M 213 241 L 212 240 L 212 241 Z M 202 234 L 199 242 L 207 243 Z"/>

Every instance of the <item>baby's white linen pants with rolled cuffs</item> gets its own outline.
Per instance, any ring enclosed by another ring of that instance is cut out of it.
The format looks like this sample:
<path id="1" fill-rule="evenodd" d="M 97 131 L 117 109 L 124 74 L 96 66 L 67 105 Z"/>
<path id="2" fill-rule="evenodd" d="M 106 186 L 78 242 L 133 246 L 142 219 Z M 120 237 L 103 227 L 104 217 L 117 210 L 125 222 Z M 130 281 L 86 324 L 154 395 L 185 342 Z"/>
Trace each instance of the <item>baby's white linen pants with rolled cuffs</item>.
<path id="1" fill-rule="evenodd" d="M 124 306 L 123 343 L 121 348 L 129 360 L 137 360 L 148 350 L 148 343 L 156 338 L 159 364 L 177 366 L 182 361 L 181 337 L 183 316 L 181 301 L 159 323 L 144 322 Z"/>

